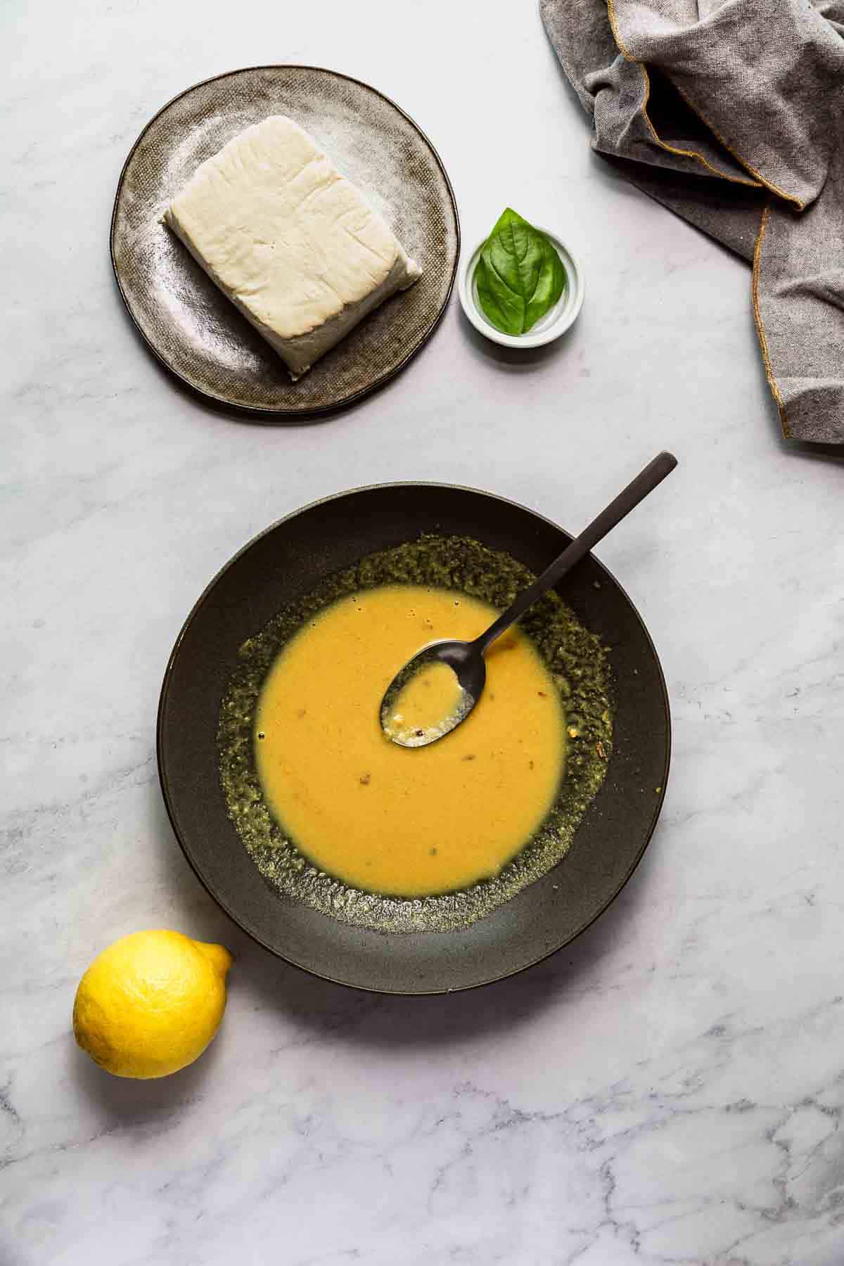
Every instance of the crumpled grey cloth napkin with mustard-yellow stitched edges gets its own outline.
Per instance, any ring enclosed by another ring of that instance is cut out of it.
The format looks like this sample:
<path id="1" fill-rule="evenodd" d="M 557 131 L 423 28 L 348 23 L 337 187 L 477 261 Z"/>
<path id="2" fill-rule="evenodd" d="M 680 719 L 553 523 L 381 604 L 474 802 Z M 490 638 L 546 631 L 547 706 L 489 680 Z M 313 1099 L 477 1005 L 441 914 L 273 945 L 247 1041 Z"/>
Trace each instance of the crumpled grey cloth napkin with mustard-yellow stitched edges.
<path id="1" fill-rule="evenodd" d="M 792 439 L 844 443 L 844 0 L 540 0 L 595 148 L 753 265 Z"/>

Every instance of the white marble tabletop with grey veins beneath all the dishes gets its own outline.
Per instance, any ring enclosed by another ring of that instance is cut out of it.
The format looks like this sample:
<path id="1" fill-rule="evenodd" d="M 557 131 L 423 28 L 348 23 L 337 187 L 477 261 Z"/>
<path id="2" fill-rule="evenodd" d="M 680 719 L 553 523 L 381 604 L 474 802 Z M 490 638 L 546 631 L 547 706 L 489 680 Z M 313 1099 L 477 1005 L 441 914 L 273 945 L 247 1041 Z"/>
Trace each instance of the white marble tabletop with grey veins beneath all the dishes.
<path id="1" fill-rule="evenodd" d="M 841 461 L 778 437 L 748 270 L 611 177 L 535 5 L 76 0 L 0 9 L 3 1266 L 835 1266 L 844 1261 Z M 320 427 L 173 390 L 108 254 L 148 116 L 264 61 L 367 80 L 426 129 L 467 242 L 510 201 L 582 253 L 571 335 L 497 358 L 452 303 L 391 387 Z M 662 823 L 569 951 L 444 999 L 286 968 L 182 861 L 153 732 L 173 637 L 268 522 L 453 480 L 569 528 L 657 448 L 599 551 L 674 711 Z M 235 955 L 189 1071 L 113 1080 L 70 1034 L 113 938 Z"/>

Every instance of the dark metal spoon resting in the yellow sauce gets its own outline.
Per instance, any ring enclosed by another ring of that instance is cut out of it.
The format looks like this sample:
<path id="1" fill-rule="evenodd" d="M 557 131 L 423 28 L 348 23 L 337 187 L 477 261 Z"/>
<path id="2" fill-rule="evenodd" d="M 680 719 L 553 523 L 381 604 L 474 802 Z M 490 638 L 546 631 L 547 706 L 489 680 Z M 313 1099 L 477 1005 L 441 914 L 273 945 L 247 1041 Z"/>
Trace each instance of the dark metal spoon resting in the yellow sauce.
<path id="1" fill-rule="evenodd" d="M 404 668 L 400 668 L 392 679 L 381 700 L 381 728 L 387 738 L 401 747 L 426 747 L 429 743 L 437 742 L 438 738 L 449 734 L 456 725 L 466 720 L 481 698 L 481 691 L 486 682 L 486 661 L 483 655 L 487 647 L 496 638 L 501 637 L 511 624 L 521 619 L 528 608 L 533 606 L 558 580 L 562 580 L 574 563 L 578 563 L 630 510 L 635 509 L 639 501 L 645 499 L 648 492 L 653 492 L 657 485 L 662 484 L 666 475 L 671 475 L 676 465 L 677 458 L 673 453 L 659 453 L 652 462 L 648 462 L 645 468 L 610 501 L 606 509 L 601 510 L 596 519 L 592 519 L 590 525 L 581 532 L 580 537 L 576 537 L 568 548 L 563 549 L 562 555 L 549 567 L 545 567 L 542 576 L 534 580 L 533 585 L 529 585 L 524 592 L 519 594 L 515 603 L 507 606 L 506 611 L 502 611 L 497 620 L 485 633 L 475 638 L 473 642 L 459 642 L 457 639 L 430 642 L 413 660 L 409 660 Z M 429 663 L 447 663 L 453 668 L 461 689 L 459 703 L 437 725 L 429 725 L 425 729 L 413 729 L 397 720 L 395 704 L 407 681 Z"/>

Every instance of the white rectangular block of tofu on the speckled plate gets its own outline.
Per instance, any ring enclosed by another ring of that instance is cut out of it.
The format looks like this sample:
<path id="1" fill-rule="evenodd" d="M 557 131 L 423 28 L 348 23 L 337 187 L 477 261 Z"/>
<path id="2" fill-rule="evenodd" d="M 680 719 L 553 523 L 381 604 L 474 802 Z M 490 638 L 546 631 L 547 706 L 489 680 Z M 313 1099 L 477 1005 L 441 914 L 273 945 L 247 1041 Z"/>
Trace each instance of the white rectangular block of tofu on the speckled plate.
<path id="1" fill-rule="evenodd" d="M 164 223 L 294 379 L 421 275 L 383 218 L 283 115 L 201 163 Z"/>

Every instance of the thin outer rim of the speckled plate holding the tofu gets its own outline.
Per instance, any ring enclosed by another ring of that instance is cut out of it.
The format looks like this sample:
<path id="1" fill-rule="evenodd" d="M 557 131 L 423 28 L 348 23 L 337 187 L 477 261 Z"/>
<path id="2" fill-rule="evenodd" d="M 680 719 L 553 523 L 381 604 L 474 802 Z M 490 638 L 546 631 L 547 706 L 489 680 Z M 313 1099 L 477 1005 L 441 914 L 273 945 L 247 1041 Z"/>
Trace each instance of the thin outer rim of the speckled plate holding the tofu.
<path id="1" fill-rule="evenodd" d="M 443 180 L 445 182 L 445 189 L 448 191 L 449 201 L 452 204 L 452 211 L 454 214 L 454 232 L 456 232 L 454 263 L 452 266 L 452 275 L 450 275 L 449 281 L 448 281 L 448 287 L 447 287 L 445 295 L 443 296 L 443 301 L 440 304 L 439 311 L 438 311 L 438 314 L 437 314 L 437 316 L 435 316 L 435 319 L 434 319 L 430 329 L 425 333 L 425 335 L 416 344 L 416 347 L 411 348 L 406 353 L 406 356 L 404 356 L 402 360 L 397 365 L 395 365 L 387 373 L 383 373 L 375 382 L 371 382 L 367 386 L 361 387 L 358 391 L 353 391 L 351 395 L 344 396 L 342 400 L 338 400 L 334 404 L 313 405 L 310 408 L 296 408 L 296 409 L 277 409 L 277 408 L 272 408 L 270 405 L 238 404 L 237 401 L 227 399 L 227 396 L 218 395 L 214 391 L 208 391 L 204 387 L 196 386 L 196 384 L 191 382 L 190 379 L 187 379 L 180 370 L 175 368 L 168 362 L 167 357 L 162 352 L 159 352 L 159 349 L 156 347 L 156 344 L 152 342 L 152 339 L 147 335 L 147 332 L 142 328 L 140 323 L 138 322 L 138 318 L 135 316 L 135 314 L 134 314 L 134 311 L 132 309 L 132 304 L 129 303 L 129 298 L 128 298 L 128 295 L 127 295 L 127 292 L 125 292 L 125 290 L 123 287 L 123 281 L 120 279 L 120 270 L 118 267 L 118 261 L 115 258 L 115 247 L 114 247 L 115 232 L 116 232 L 116 223 L 118 223 L 118 211 L 119 211 L 119 206 L 120 206 L 120 195 L 123 192 L 123 185 L 124 185 L 124 181 L 125 181 L 125 177 L 127 177 L 127 172 L 129 170 L 129 165 L 132 163 L 132 160 L 133 160 L 133 157 L 135 154 L 135 151 L 138 149 L 138 146 L 140 144 L 140 142 L 143 141 L 143 138 L 147 135 L 147 133 L 149 132 L 149 129 L 152 128 L 152 125 L 162 116 L 162 114 L 164 114 L 167 110 L 170 110 L 171 106 L 173 106 L 176 104 L 176 101 L 181 101 L 181 99 L 183 96 L 187 96 L 189 92 L 194 92 L 194 91 L 196 91 L 196 89 L 205 87 L 206 84 L 215 84 L 218 80 L 232 78 L 234 75 L 248 75 L 249 72 L 253 72 L 253 71 L 280 71 L 280 70 L 315 71 L 315 72 L 318 72 L 320 75 L 330 75 L 334 78 L 345 80 L 348 84 L 354 84 L 358 87 L 366 89 L 368 92 L 373 92 L 376 96 L 380 96 L 382 101 L 386 101 L 387 105 L 392 106 L 392 109 L 396 110 L 402 116 L 402 119 L 405 119 L 410 124 L 410 127 L 419 134 L 419 137 L 421 138 L 421 141 L 425 143 L 425 146 L 429 148 L 430 153 L 433 154 L 434 161 L 435 161 L 435 163 L 437 163 L 437 166 L 439 168 L 439 172 L 440 172 L 440 175 L 442 175 L 442 177 L 443 177 Z M 199 396 L 201 400 L 211 401 L 213 404 L 215 404 L 218 406 L 223 406 L 225 409 L 232 409 L 232 410 L 234 410 L 235 413 L 238 413 L 240 415 L 252 418 L 254 422 L 262 422 L 262 423 L 267 423 L 267 424 L 273 424 L 273 423 L 277 424 L 277 423 L 285 423 L 285 422 L 301 422 L 301 420 L 305 420 L 305 419 L 309 419 L 309 418 L 314 419 L 314 418 L 326 418 L 326 417 L 330 417 L 332 414 L 337 414 L 337 413 L 340 413 L 344 409 L 351 408 L 352 405 L 357 404 L 359 400 L 363 400 L 366 396 L 371 395 L 372 392 L 378 391 L 381 387 L 386 386 L 395 377 L 397 377 L 397 375 L 401 373 L 401 371 L 407 367 L 407 365 L 410 363 L 410 361 L 413 361 L 413 358 L 419 352 L 421 352 L 421 349 L 425 347 L 425 344 L 431 339 L 431 337 L 434 335 L 435 330 L 438 329 L 438 327 L 440 324 L 440 322 L 443 320 L 443 316 L 445 315 L 445 311 L 448 309 L 452 294 L 454 291 L 454 282 L 457 280 L 457 271 L 458 271 L 459 262 L 461 262 L 461 246 L 462 246 L 462 243 L 461 243 L 461 216 L 459 216 L 459 210 L 458 210 L 458 206 L 457 206 L 457 199 L 454 196 L 454 187 L 452 185 L 452 181 L 449 179 L 448 172 L 445 171 L 445 165 L 443 163 L 443 160 L 440 158 L 439 152 L 435 148 L 435 146 L 433 144 L 433 142 L 431 142 L 430 137 L 428 135 L 428 133 L 424 132 L 423 128 L 419 127 L 419 124 L 416 123 L 416 120 L 414 118 L 411 118 L 411 115 L 409 115 L 406 110 L 402 110 L 402 108 L 400 105 L 397 105 L 392 100 L 392 97 L 387 96 L 386 92 L 381 92 L 380 89 L 373 87 L 371 84 L 366 84 L 363 80 L 356 78 L 354 75 L 345 75 L 345 73 L 343 73 L 343 71 L 333 71 L 333 70 L 330 70 L 326 66 L 311 66 L 311 65 L 307 65 L 307 63 L 304 63 L 304 62 L 302 63 L 300 63 L 300 62 L 268 62 L 268 63 L 257 65 L 257 66 L 239 66 L 235 70 L 223 71 L 220 75 L 210 75 L 208 78 L 197 80 L 195 84 L 189 85 L 189 87 L 182 89 L 181 92 L 176 92 L 176 95 L 171 96 L 168 101 L 164 101 L 164 104 L 158 110 L 156 110 L 156 113 L 143 125 L 143 128 L 138 133 L 134 143 L 132 144 L 132 148 L 129 149 L 129 153 L 125 157 L 123 167 L 120 168 L 120 176 L 118 177 L 118 187 L 116 187 L 115 194 L 114 194 L 114 203 L 113 203 L 113 206 L 111 206 L 111 219 L 110 219 L 110 223 L 109 223 L 109 256 L 111 258 L 111 270 L 114 272 L 114 279 L 116 281 L 118 290 L 120 292 L 120 298 L 123 299 L 123 305 L 124 305 L 127 313 L 129 314 L 129 318 L 132 319 L 132 324 L 134 325 L 137 333 L 143 339 L 143 342 L 144 342 L 146 347 L 148 348 L 148 351 L 152 352 L 152 354 L 156 357 L 156 360 L 158 361 L 158 363 L 161 366 L 163 366 L 163 368 L 167 371 L 167 373 L 171 373 L 192 395 Z"/>

